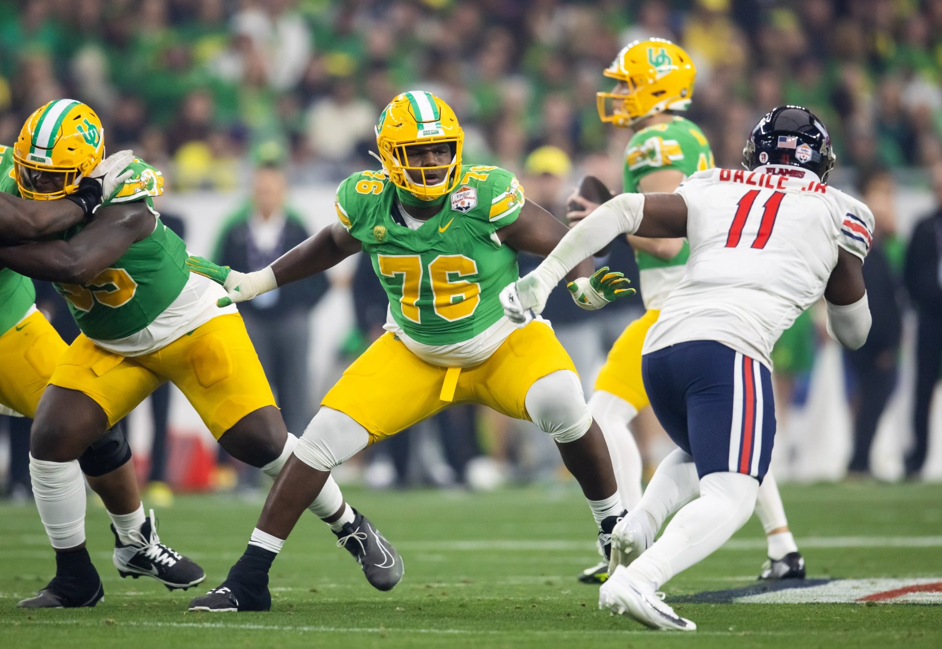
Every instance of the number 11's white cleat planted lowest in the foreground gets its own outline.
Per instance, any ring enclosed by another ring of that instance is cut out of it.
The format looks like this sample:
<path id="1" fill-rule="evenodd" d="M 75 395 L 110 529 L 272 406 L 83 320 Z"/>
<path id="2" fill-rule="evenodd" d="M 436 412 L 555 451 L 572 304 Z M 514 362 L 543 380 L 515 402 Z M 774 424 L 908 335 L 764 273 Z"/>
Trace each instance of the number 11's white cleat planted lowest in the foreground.
<path id="1" fill-rule="evenodd" d="M 632 578 L 624 566 L 618 566 L 599 589 L 598 608 L 608 608 L 612 615 L 625 615 L 659 630 L 697 630 L 697 625 L 674 613 L 661 597 L 663 593 L 654 592 L 649 583 Z"/>

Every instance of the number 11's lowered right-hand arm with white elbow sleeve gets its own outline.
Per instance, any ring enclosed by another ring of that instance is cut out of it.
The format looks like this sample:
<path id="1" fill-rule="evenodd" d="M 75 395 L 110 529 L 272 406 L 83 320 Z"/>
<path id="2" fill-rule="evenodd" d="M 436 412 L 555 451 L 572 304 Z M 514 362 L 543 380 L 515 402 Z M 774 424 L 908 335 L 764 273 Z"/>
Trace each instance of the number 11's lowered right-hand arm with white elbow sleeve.
<path id="1" fill-rule="evenodd" d="M 864 284 L 864 262 L 843 248 L 837 249 L 837 264 L 831 271 L 824 300 L 827 331 L 848 349 L 860 349 L 870 331 L 870 307 Z"/>

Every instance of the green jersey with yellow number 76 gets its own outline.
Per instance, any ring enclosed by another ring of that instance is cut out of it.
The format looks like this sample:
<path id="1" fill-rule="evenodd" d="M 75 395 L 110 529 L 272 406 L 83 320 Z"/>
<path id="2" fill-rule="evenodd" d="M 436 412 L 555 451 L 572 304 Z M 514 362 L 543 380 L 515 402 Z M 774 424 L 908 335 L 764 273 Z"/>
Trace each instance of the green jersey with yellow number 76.
<path id="1" fill-rule="evenodd" d="M 510 171 L 463 165 L 441 211 L 417 229 L 382 171 L 361 171 L 337 188 L 337 218 L 363 244 L 409 337 L 451 345 L 503 315 L 499 294 L 518 278 L 517 253 L 496 231 L 520 216 L 523 187 Z"/>

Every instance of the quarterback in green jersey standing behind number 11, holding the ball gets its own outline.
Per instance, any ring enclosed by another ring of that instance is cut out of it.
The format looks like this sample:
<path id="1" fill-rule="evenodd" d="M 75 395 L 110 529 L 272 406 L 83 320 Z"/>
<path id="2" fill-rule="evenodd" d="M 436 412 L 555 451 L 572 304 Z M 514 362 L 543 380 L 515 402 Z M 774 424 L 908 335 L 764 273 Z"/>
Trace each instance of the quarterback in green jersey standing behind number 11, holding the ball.
<path id="1" fill-rule="evenodd" d="M 625 192 L 673 192 L 697 171 L 713 167 L 707 138 L 690 120 L 675 113 L 687 110 L 693 96 L 696 70 L 678 45 L 662 39 L 633 42 L 615 57 L 604 72 L 618 83 L 611 92 L 598 93 L 603 122 L 631 128 L 634 135 L 625 152 Z M 583 209 L 570 212 L 572 221 L 584 219 L 597 207 L 578 195 L 571 202 Z M 642 498 L 642 459 L 628 424 L 650 402 L 642 381 L 642 344 L 668 294 L 684 276 L 690 246 L 686 239 L 628 236 L 641 274 L 646 313 L 632 322 L 609 351 L 589 399 L 616 464 L 619 493 L 629 510 Z M 769 560 L 760 578 L 803 578 L 804 558 L 798 552 L 778 485 L 766 475 L 755 508 L 765 528 Z M 586 583 L 605 581 L 609 564 L 602 561 L 579 575 Z"/>

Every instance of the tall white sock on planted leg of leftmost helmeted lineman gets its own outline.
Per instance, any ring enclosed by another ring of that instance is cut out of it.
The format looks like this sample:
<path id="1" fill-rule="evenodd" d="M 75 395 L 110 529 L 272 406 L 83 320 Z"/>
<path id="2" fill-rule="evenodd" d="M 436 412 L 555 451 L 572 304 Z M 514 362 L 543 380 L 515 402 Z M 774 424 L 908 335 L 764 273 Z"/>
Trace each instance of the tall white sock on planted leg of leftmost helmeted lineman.
<path id="1" fill-rule="evenodd" d="M 46 462 L 29 456 L 36 509 L 57 550 L 85 543 L 85 480 L 77 460 Z"/>

